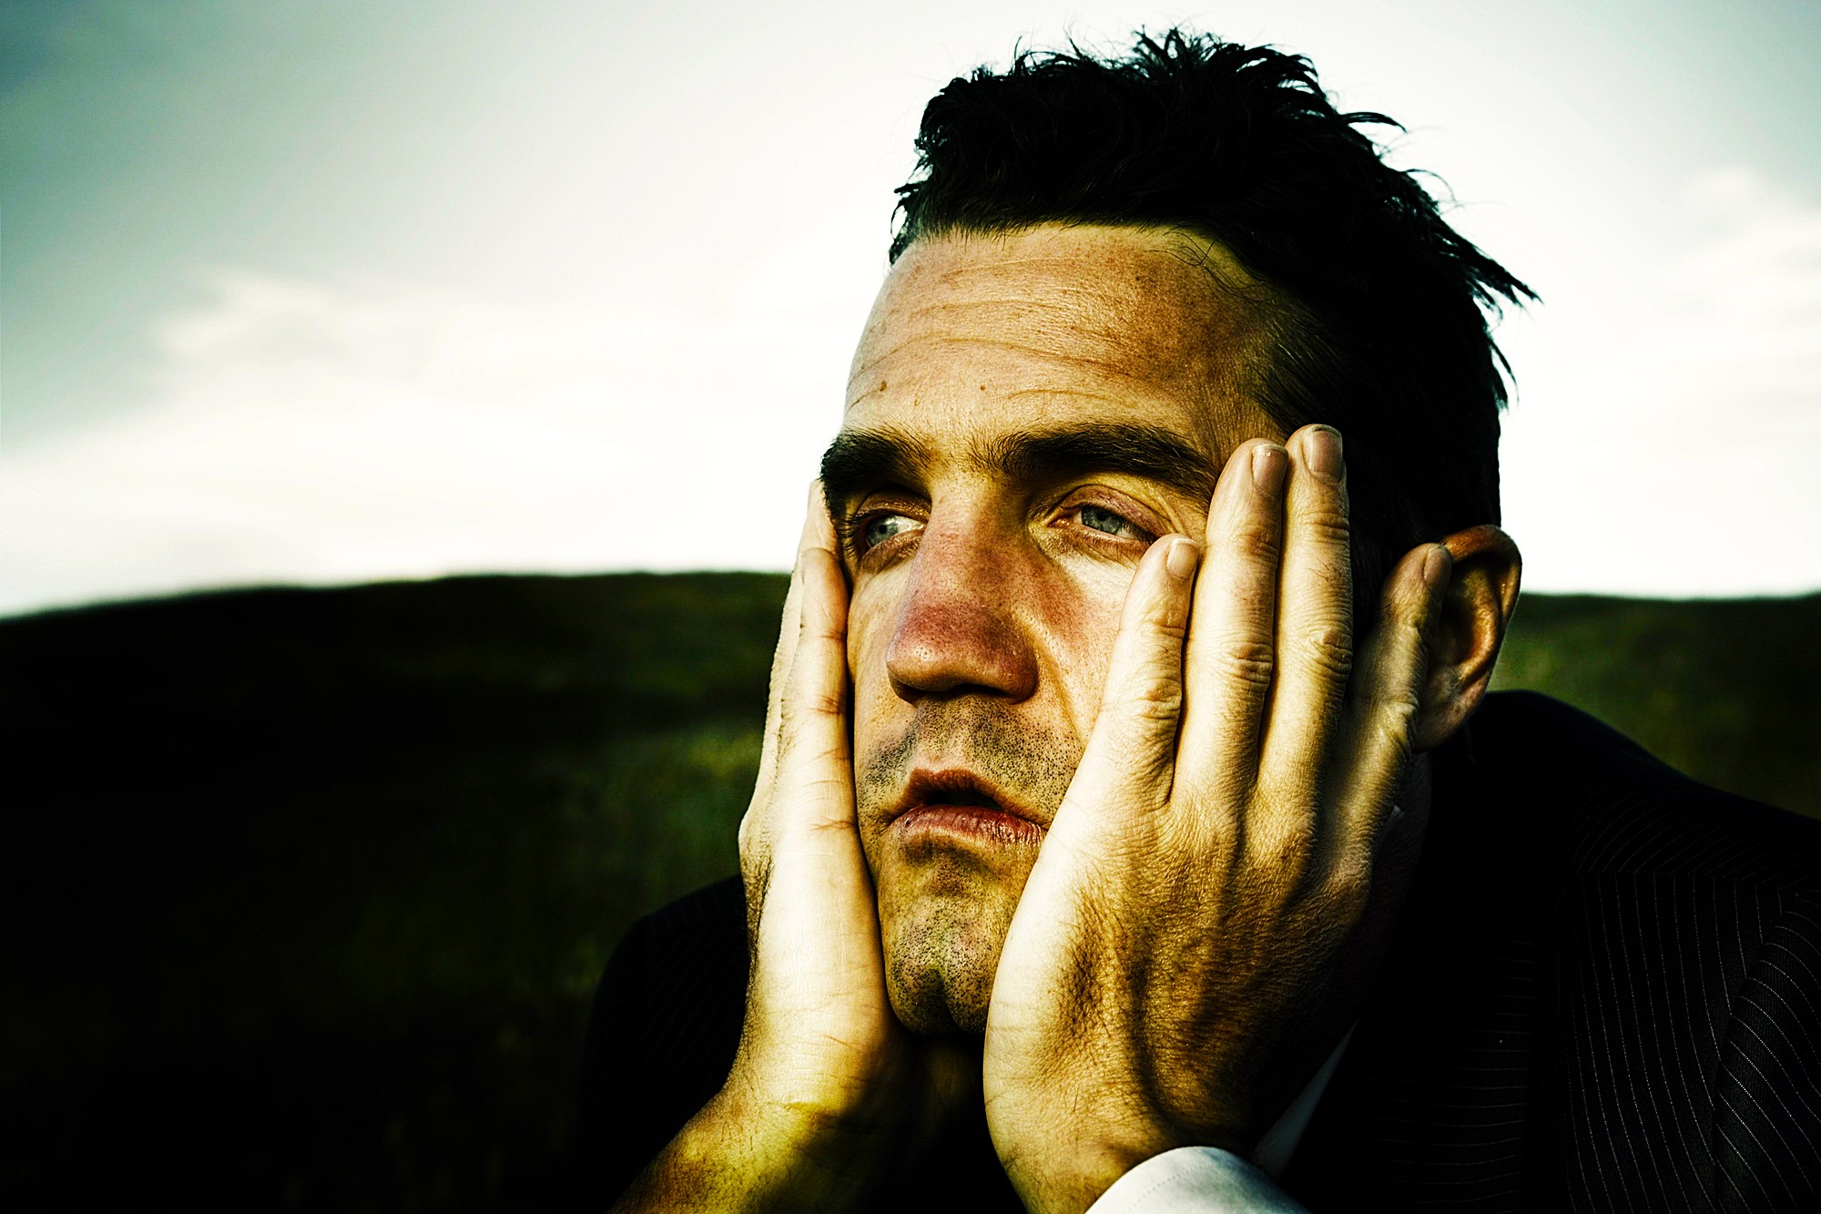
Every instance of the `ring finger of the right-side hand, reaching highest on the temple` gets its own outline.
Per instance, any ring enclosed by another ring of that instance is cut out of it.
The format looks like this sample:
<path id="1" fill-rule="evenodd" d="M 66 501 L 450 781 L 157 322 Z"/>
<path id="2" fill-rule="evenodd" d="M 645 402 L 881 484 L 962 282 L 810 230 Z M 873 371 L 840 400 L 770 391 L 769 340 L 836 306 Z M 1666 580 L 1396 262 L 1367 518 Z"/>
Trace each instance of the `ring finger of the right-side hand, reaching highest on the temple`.
<path id="1" fill-rule="evenodd" d="M 1315 806 L 1353 671 L 1353 556 L 1340 432 L 1302 427 L 1287 447 L 1277 685 L 1258 780 L 1295 817 Z"/>

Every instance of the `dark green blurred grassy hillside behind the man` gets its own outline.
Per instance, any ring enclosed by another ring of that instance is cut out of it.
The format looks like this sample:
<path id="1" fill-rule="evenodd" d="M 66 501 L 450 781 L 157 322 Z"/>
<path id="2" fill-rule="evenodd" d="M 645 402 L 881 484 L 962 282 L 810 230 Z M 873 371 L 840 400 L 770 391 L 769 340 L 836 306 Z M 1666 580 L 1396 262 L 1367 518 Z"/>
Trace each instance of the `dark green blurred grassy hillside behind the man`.
<path id="1" fill-rule="evenodd" d="M 461 578 L 0 623 L 5 1190 L 546 1209 L 614 941 L 736 869 L 783 589 Z M 1526 598 L 1501 684 L 1821 815 L 1817 634 L 1821 596 Z"/>

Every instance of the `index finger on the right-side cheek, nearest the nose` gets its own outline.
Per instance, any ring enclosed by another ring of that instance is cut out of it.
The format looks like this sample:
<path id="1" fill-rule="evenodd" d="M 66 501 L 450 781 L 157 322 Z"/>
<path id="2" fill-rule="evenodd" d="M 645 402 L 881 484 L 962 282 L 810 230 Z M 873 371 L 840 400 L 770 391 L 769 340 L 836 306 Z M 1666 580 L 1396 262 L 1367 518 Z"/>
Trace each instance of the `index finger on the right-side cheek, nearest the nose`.
<path id="1" fill-rule="evenodd" d="M 1089 806 L 1087 817 L 1098 826 L 1120 808 L 1169 804 L 1184 700 L 1182 642 L 1198 560 L 1193 540 L 1164 536 L 1138 561 L 1113 640 L 1100 715 L 1053 833 L 1073 829 L 1063 822 L 1071 817 L 1069 804 Z"/>

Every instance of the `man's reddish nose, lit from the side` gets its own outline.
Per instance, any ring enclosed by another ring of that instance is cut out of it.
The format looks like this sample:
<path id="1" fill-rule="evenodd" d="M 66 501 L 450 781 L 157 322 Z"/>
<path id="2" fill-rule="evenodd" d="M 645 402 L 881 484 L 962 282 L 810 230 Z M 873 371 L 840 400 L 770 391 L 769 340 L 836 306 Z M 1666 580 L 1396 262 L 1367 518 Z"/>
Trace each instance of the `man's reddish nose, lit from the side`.
<path id="1" fill-rule="evenodd" d="M 925 525 L 885 651 L 901 698 L 985 691 L 1023 700 L 1036 691 L 1036 649 L 1020 622 L 1034 574 L 1016 547 L 1012 534 L 978 520 Z"/>

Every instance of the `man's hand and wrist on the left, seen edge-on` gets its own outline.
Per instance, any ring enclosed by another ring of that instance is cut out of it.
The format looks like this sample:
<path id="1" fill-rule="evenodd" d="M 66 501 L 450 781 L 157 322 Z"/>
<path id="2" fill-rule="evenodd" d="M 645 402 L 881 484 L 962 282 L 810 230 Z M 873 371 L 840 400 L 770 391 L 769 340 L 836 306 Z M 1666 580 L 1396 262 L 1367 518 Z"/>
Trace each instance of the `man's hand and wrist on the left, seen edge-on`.
<path id="1" fill-rule="evenodd" d="M 847 580 L 818 481 L 739 824 L 752 950 L 739 1052 L 617 1210 L 852 1207 L 980 1101 L 978 1050 L 912 1037 L 885 993 L 850 736 Z"/>

